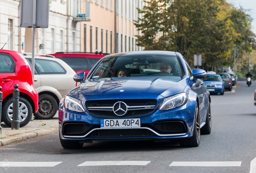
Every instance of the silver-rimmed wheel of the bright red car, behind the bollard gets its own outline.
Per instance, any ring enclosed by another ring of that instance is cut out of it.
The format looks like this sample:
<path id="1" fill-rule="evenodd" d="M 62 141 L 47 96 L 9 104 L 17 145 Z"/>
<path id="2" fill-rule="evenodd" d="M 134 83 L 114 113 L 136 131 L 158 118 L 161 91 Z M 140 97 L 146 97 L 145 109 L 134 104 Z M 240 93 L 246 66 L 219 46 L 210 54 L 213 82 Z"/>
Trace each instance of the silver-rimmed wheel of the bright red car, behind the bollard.
<path id="1" fill-rule="evenodd" d="M 23 127 L 29 123 L 31 120 L 31 117 L 33 115 L 33 110 L 32 106 L 27 101 L 27 99 L 20 97 L 19 98 L 19 120 L 20 120 L 20 127 Z M 13 111 L 13 106 L 12 106 L 12 98 L 7 99 L 4 101 L 3 104 L 3 111 L 2 111 L 2 118 L 4 123 L 11 127 L 12 125 L 12 111 Z"/>

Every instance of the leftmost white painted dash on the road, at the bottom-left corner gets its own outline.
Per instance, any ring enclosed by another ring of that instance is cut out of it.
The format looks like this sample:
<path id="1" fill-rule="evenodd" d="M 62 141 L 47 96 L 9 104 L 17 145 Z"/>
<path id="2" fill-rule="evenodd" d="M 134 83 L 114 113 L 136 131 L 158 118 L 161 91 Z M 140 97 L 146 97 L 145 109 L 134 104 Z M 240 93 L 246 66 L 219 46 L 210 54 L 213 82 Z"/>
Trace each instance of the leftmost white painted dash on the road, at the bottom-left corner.
<path id="1" fill-rule="evenodd" d="M 0 167 L 54 167 L 62 162 L 0 162 Z"/>

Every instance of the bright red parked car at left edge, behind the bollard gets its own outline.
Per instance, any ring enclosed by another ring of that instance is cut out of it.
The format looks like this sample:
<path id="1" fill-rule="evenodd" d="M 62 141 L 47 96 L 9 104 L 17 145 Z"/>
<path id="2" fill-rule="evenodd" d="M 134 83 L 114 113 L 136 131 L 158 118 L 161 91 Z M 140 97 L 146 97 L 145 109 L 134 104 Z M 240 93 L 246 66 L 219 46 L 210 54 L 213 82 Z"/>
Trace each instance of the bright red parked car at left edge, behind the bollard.
<path id="1" fill-rule="evenodd" d="M 38 93 L 33 86 L 31 68 L 22 52 L 0 49 L 0 81 L 3 93 L 1 122 L 11 127 L 12 92 L 14 84 L 18 84 L 20 127 L 27 125 L 38 110 Z"/>

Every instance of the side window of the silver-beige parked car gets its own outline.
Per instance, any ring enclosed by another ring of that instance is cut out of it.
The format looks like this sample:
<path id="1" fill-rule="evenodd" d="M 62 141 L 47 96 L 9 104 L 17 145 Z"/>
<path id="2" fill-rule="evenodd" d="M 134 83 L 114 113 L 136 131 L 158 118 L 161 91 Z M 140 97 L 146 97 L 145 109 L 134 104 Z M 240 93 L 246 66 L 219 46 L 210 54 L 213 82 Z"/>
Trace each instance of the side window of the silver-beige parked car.
<path id="1" fill-rule="evenodd" d="M 40 74 L 66 74 L 66 70 L 58 62 L 35 59 L 35 66 Z"/>

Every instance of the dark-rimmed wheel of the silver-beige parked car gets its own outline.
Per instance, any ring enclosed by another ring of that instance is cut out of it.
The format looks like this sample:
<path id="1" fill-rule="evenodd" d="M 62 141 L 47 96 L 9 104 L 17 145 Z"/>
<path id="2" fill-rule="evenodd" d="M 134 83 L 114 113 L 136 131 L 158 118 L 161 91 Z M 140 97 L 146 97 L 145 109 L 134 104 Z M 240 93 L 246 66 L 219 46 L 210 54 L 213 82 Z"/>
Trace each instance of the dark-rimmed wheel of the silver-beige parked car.
<path id="1" fill-rule="evenodd" d="M 39 95 L 39 109 L 34 114 L 35 119 L 51 119 L 58 111 L 58 103 L 54 97 L 48 94 Z"/>

